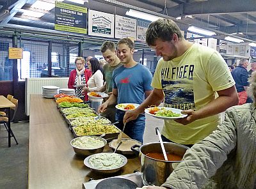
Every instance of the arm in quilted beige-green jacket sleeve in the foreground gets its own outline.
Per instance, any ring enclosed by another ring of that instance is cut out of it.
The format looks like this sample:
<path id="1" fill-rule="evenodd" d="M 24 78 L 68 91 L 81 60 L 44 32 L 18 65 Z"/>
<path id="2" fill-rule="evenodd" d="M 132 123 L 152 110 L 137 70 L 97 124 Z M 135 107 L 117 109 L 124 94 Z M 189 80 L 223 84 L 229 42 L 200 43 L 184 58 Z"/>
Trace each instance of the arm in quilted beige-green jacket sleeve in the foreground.
<path id="1" fill-rule="evenodd" d="M 236 119 L 234 109 L 228 111 L 225 121 L 217 130 L 186 151 L 182 162 L 162 186 L 173 189 L 202 188 L 208 179 L 216 174 L 227 160 L 228 154 L 236 148 L 236 125 L 242 124 Z"/>

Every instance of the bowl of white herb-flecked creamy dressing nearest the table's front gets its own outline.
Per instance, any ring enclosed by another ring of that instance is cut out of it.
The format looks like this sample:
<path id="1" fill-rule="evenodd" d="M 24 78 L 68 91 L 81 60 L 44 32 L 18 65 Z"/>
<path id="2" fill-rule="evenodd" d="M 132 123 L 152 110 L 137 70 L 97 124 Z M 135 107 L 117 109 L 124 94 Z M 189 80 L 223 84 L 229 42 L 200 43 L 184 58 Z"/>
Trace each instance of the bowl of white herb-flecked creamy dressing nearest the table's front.
<path id="1" fill-rule="evenodd" d="M 84 159 L 86 167 L 102 174 L 118 172 L 126 163 L 127 158 L 117 153 L 98 153 Z"/>

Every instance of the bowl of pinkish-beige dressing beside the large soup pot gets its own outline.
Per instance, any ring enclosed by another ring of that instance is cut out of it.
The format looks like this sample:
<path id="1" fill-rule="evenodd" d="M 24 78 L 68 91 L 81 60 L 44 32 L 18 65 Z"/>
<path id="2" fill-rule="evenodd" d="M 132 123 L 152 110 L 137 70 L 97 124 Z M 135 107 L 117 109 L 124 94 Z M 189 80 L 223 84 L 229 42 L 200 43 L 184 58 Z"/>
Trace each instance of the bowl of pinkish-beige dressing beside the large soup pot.
<path id="1" fill-rule="evenodd" d="M 134 145 L 141 146 L 141 142 L 134 139 L 122 139 L 121 141 L 122 141 L 122 144 L 118 147 L 118 149 L 116 150 L 116 153 L 119 153 L 122 155 L 127 155 L 127 156 L 135 155 L 134 151 L 131 150 L 131 147 Z M 113 151 L 115 151 L 117 146 L 118 146 L 117 139 L 109 142 L 109 147 L 111 147 Z"/>

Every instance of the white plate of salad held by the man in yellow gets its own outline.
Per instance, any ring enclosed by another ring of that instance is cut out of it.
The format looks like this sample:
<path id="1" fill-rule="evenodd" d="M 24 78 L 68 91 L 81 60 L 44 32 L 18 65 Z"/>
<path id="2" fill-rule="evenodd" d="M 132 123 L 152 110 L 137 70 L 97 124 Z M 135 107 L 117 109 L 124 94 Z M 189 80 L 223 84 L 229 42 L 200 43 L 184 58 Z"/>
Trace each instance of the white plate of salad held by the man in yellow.
<path id="1" fill-rule="evenodd" d="M 158 119 L 179 119 L 187 117 L 187 114 L 181 114 L 180 109 L 169 107 L 150 107 L 145 109 L 145 113 Z"/>

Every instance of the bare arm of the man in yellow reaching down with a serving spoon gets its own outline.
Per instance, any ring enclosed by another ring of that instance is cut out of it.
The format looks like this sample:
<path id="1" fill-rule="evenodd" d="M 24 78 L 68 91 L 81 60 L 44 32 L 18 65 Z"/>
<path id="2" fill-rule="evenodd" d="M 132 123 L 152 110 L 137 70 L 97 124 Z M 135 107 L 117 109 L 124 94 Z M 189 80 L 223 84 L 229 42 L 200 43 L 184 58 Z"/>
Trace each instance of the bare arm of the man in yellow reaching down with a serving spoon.
<path id="1" fill-rule="evenodd" d="M 158 106 L 164 99 L 164 93 L 162 89 L 153 89 L 152 92 L 148 91 L 147 93 L 150 93 L 149 96 L 143 103 L 141 103 L 141 105 L 138 108 L 132 111 L 125 112 L 124 123 L 137 119 L 139 114 L 143 113 L 145 109 L 150 107 L 150 105 Z"/>

